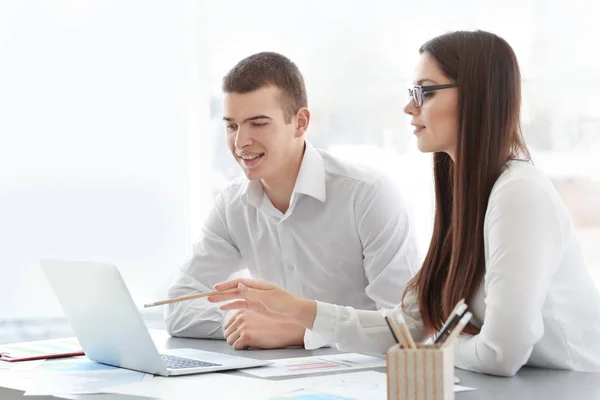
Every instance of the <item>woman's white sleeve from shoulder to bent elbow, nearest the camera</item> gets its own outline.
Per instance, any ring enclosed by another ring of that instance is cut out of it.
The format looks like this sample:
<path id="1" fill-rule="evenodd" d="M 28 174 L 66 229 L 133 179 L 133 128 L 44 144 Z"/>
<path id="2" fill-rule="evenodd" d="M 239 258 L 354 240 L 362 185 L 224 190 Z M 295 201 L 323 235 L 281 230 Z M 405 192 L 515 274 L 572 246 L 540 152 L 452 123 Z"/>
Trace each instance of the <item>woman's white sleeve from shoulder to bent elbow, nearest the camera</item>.
<path id="1" fill-rule="evenodd" d="M 484 322 L 478 335 L 455 342 L 457 367 L 512 376 L 543 336 L 542 307 L 562 249 L 555 204 L 543 186 L 525 179 L 490 197 Z"/>

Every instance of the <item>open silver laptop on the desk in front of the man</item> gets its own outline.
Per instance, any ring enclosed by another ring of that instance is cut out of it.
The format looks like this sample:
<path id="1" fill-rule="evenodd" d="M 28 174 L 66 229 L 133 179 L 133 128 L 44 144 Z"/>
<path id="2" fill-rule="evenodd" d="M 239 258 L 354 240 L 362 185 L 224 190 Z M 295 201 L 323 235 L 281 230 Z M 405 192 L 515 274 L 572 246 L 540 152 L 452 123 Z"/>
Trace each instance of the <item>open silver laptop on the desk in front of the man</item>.
<path id="1" fill-rule="evenodd" d="M 162 376 L 271 364 L 196 349 L 161 354 L 117 267 L 61 260 L 42 260 L 41 264 L 90 360 Z"/>

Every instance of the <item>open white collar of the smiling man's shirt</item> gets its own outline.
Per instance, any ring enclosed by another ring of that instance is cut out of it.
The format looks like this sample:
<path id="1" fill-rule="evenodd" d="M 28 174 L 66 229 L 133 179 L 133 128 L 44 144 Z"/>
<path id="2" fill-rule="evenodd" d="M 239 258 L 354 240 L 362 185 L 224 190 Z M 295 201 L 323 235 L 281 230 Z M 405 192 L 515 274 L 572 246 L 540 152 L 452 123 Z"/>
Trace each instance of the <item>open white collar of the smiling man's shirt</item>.
<path id="1" fill-rule="evenodd" d="M 327 198 L 325 187 L 325 160 L 317 149 L 305 141 L 304 156 L 296 177 L 293 193 L 302 193 L 324 203 Z M 248 203 L 260 209 L 264 199 L 264 190 L 259 180 L 248 181 L 245 197 Z"/>

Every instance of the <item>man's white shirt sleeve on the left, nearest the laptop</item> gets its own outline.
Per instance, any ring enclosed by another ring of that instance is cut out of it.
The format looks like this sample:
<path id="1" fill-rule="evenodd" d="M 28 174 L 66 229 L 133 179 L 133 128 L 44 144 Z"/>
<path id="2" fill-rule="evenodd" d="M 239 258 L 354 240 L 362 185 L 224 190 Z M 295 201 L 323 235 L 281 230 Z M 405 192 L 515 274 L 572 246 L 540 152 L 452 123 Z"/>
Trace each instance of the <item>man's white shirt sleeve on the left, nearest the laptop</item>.
<path id="1" fill-rule="evenodd" d="M 180 297 L 214 290 L 243 269 L 241 255 L 227 228 L 225 200 L 219 194 L 208 215 L 191 259 L 179 270 L 168 297 Z M 217 304 L 196 299 L 168 304 L 165 324 L 172 336 L 223 339 L 223 316 Z"/>

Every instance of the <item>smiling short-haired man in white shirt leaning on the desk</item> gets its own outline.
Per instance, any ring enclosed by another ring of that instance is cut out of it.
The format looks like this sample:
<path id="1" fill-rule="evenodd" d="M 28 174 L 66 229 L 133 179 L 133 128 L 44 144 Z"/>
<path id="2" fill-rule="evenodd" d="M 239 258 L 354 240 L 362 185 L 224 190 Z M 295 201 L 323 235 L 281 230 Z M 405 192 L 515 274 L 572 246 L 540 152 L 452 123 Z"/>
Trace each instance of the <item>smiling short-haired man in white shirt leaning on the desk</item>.
<path id="1" fill-rule="evenodd" d="M 240 61 L 223 80 L 231 154 L 246 178 L 216 198 L 191 260 L 169 297 L 212 290 L 232 273 L 311 299 L 359 309 L 391 308 L 419 267 L 406 204 L 377 171 L 316 150 L 306 89 L 277 53 Z M 224 315 L 206 300 L 170 304 L 174 336 L 225 338 L 236 349 L 318 343 L 299 325 L 252 312 Z M 323 343 L 326 345 L 328 343 Z"/>

